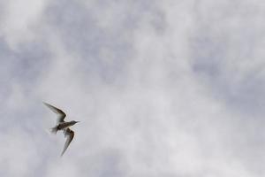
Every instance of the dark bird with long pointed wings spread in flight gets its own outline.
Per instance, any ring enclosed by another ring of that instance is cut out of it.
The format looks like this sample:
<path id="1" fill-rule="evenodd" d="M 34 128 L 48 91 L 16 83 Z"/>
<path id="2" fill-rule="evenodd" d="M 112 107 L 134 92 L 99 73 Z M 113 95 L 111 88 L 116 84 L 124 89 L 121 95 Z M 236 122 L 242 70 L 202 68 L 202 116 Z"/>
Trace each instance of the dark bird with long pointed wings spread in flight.
<path id="1" fill-rule="evenodd" d="M 60 110 L 59 108 L 47 104 L 43 102 L 52 112 L 55 112 L 57 114 L 57 125 L 56 127 L 51 127 L 50 132 L 53 134 L 57 134 L 57 131 L 63 131 L 64 132 L 64 137 L 66 138 L 66 141 L 64 143 L 64 150 L 61 153 L 61 157 L 64 155 L 65 150 L 67 150 L 68 146 L 72 142 L 73 136 L 74 136 L 74 131 L 70 129 L 69 127 L 72 127 L 74 124 L 78 123 L 79 121 L 64 121 L 64 118 L 66 117 L 66 114 Z"/>

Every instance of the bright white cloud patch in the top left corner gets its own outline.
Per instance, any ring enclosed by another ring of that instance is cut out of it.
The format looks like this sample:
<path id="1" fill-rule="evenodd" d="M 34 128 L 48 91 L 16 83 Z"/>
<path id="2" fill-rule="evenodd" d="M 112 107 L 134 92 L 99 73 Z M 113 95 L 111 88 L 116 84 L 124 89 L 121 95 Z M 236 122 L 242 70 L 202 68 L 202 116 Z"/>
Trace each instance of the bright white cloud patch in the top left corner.
<path id="1" fill-rule="evenodd" d="M 48 0 L 11 0 L 2 4 L 2 37 L 16 49 L 22 42 L 31 42 L 35 37 L 34 28 L 42 24 L 40 17 L 49 3 Z"/>

